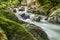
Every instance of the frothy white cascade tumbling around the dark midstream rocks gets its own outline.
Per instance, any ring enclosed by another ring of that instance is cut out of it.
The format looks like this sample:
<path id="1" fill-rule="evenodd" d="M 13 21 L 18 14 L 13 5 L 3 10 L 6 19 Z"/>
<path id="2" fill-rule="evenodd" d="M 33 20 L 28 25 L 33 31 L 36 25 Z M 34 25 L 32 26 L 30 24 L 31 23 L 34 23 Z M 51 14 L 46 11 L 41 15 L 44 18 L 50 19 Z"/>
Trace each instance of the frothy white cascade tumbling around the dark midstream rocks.
<path id="1" fill-rule="evenodd" d="M 21 20 L 24 20 L 24 21 L 30 20 L 30 21 L 32 21 L 33 20 L 33 17 L 35 16 L 32 13 L 27 13 L 27 10 L 28 10 L 27 7 L 25 7 L 25 10 L 24 11 L 19 11 L 18 8 L 14 8 L 14 9 L 16 9 L 15 15 L 19 19 L 21 19 Z M 24 18 L 22 16 L 24 16 Z M 26 17 L 26 19 L 25 19 L 25 17 Z"/>

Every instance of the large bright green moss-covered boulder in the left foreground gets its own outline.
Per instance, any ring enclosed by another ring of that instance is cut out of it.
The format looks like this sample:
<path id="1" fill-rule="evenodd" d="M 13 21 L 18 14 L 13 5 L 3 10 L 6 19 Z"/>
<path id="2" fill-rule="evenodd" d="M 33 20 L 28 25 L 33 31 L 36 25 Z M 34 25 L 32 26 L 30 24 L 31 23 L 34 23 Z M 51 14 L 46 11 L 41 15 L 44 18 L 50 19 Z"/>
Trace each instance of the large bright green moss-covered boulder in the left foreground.
<path id="1" fill-rule="evenodd" d="M 16 40 L 36 40 L 23 26 L 4 17 L 0 17 L 0 26 L 5 31 L 8 40 L 14 38 Z"/>

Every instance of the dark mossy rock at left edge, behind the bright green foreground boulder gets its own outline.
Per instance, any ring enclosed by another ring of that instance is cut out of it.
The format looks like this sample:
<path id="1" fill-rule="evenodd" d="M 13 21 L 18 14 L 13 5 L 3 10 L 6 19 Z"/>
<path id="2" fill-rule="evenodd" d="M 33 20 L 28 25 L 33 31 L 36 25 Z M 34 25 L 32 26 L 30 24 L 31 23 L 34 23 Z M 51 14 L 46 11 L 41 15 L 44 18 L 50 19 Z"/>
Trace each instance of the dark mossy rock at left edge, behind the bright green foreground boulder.
<path id="1" fill-rule="evenodd" d="M 6 17 L 15 22 L 19 22 L 18 18 L 15 16 L 14 12 L 6 8 L 0 8 L 0 16 Z"/>

